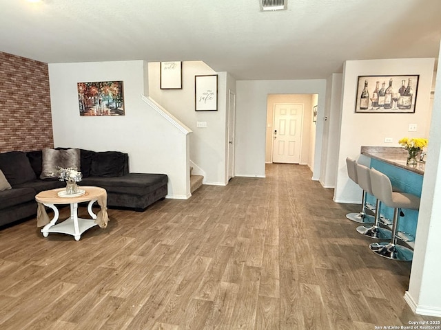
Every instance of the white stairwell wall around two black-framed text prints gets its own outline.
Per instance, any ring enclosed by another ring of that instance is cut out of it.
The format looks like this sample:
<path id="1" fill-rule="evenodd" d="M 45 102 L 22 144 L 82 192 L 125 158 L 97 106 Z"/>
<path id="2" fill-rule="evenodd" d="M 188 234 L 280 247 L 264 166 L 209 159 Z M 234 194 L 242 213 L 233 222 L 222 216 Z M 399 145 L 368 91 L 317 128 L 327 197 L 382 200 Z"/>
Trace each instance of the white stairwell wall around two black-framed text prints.
<path id="1" fill-rule="evenodd" d="M 193 131 L 190 135 L 190 159 L 197 165 L 193 173 L 203 174 L 204 184 L 227 184 L 227 73 L 214 72 L 202 61 L 183 62 L 183 88 L 161 89 L 160 63 L 149 63 L 148 67 L 150 98 Z M 218 75 L 218 111 L 195 111 L 194 76 L 208 74 Z M 231 85 L 234 84 L 229 87 Z M 196 127 L 196 122 L 207 122 L 207 127 Z M 198 169 L 203 173 L 197 173 Z"/>

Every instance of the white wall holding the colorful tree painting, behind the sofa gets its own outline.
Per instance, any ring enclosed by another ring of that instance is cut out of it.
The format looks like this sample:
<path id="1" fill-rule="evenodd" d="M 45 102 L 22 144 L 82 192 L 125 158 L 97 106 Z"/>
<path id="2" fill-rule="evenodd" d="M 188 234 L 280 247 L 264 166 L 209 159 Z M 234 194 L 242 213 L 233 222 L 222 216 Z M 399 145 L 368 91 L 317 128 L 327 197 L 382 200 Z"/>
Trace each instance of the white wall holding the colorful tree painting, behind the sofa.
<path id="1" fill-rule="evenodd" d="M 169 198 L 187 198 L 187 138 L 147 106 L 143 61 L 49 64 L 54 145 L 129 154 L 138 173 L 165 173 Z M 77 83 L 122 80 L 123 116 L 80 117 Z"/>

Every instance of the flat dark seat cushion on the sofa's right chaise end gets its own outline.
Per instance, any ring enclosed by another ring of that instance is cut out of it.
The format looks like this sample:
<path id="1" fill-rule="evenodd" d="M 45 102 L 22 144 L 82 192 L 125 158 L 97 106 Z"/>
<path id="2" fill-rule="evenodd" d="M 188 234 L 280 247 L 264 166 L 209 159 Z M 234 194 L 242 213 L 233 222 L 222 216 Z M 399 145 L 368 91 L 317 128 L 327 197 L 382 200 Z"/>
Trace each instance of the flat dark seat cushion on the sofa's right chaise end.
<path id="1" fill-rule="evenodd" d="M 142 196 L 161 186 L 167 186 L 167 181 L 165 174 L 129 173 L 122 177 L 88 177 L 79 184 L 102 187 L 107 192 Z"/>

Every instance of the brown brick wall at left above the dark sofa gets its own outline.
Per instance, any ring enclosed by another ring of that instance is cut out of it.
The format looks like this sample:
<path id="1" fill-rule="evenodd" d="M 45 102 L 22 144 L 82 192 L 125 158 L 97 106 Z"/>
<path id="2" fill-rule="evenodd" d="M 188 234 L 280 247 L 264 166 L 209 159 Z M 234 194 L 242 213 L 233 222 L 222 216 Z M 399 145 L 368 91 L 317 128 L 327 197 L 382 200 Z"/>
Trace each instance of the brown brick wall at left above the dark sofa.
<path id="1" fill-rule="evenodd" d="M 48 65 L 0 52 L 0 152 L 53 146 Z"/>

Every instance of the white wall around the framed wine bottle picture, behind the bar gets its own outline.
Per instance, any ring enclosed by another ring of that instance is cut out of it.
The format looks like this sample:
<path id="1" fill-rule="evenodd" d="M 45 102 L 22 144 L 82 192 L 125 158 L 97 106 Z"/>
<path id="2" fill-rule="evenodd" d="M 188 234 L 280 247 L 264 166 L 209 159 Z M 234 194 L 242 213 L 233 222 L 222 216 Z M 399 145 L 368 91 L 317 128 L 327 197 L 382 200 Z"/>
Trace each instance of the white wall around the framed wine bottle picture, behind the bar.
<path id="1" fill-rule="evenodd" d="M 360 188 L 347 176 L 346 157 L 358 159 L 360 146 L 399 146 L 400 138 L 428 137 L 430 89 L 433 58 L 346 61 L 343 72 L 340 150 L 334 201 L 360 203 Z M 419 74 L 415 113 L 355 113 L 358 76 L 391 76 Z M 418 124 L 418 132 L 409 133 L 408 125 Z M 393 143 L 384 143 L 392 137 Z M 363 160 L 362 160 L 363 161 Z"/>

